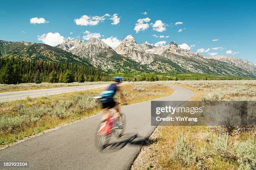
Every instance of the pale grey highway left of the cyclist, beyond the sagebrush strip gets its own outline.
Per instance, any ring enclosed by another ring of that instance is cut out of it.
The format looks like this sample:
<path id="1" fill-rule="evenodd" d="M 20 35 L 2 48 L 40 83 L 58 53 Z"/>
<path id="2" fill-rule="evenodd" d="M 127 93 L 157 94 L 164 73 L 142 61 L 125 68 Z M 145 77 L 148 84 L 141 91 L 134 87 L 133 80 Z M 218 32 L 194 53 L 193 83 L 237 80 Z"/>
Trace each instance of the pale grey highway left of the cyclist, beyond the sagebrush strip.
<path id="1" fill-rule="evenodd" d="M 40 89 L 40 90 L 26 90 L 18 92 L 1 92 L 0 93 L 0 102 L 7 100 L 18 100 L 26 97 L 39 97 L 47 95 L 56 95 L 65 92 L 75 92 L 81 90 L 89 90 L 99 87 L 107 87 L 109 84 L 100 84 L 100 85 L 86 85 L 86 86 L 73 86 L 73 87 L 59 87 L 59 88 L 49 88 L 49 89 Z"/>

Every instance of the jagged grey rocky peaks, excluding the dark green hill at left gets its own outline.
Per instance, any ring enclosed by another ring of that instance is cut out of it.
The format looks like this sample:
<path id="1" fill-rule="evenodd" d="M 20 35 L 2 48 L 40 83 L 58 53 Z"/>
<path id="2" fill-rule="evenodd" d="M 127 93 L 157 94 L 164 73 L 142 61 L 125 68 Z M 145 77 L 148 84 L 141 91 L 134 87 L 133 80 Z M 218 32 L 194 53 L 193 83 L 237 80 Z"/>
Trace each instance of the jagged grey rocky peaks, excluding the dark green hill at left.
<path id="1" fill-rule="evenodd" d="M 148 42 L 137 44 L 132 35 L 126 36 L 115 49 L 96 38 L 92 38 L 88 42 L 66 40 L 56 47 L 87 58 L 92 65 L 105 71 L 143 70 L 144 72 L 162 73 L 195 72 L 256 76 L 256 66 L 247 60 L 235 60 L 236 58 L 228 56 L 205 57 L 180 48 L 176 42 L 161 47 L 156 47 Z"/>

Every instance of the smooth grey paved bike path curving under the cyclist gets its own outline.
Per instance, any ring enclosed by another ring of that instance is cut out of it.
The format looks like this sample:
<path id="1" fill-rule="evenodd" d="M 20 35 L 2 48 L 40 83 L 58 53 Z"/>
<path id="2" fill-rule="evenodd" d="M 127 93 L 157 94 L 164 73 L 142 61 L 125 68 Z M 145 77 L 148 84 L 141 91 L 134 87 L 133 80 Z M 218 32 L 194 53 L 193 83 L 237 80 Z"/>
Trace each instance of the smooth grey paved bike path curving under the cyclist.
<path id="1" fill-rule="evenodd" d="M 174 94 L 157 100 L 189 100 L 194 92 L 170 85 Z M 123 107 L 125 134 L 105 150 L 95 147 L 95 133 L 101 115 L 54 130 L 0 150 L 0 161 L 26 161 L 26 170 L 123 170 L 130 168 L 143 141 L 154 131 L 151 102 Z M 0 167 L 1 169 L 1 167 Z M 4 168 L 10 169 L 10 168 Z M 17 168 L 13 168 L 17 170 Z"/>

